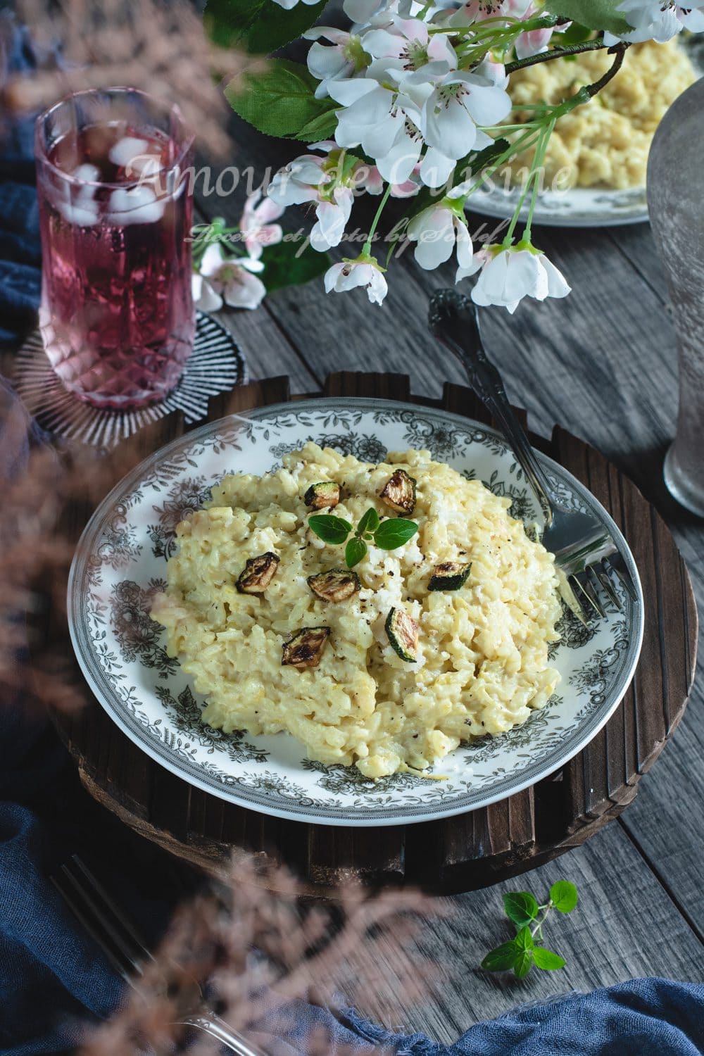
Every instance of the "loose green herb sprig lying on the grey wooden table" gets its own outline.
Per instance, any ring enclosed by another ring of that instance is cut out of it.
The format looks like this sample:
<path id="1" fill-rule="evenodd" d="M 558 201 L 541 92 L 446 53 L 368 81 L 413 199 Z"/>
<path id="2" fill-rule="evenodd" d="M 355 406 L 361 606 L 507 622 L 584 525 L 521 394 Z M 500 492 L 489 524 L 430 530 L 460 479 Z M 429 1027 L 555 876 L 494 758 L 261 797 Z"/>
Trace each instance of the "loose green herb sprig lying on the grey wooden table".
<path id="1" fill-rule="evenodd" d="M 511 891 L 503 895 L 507 917 L 516 926 L 516 936 L 487 954 L 481 967 L 486 972 L 510 972 L 516 979 L 525 979 L 533 965 L 544 972 L 565 967 L 565 958 L 540 945 L 543 925 L 551 909 L 571 913 L 578 901 L 577 889 L 569 880 L 558 880 L 550 888 L 545 905 L 529 891 Z M 536 943 L 535 940 L 538 940 Z"/>

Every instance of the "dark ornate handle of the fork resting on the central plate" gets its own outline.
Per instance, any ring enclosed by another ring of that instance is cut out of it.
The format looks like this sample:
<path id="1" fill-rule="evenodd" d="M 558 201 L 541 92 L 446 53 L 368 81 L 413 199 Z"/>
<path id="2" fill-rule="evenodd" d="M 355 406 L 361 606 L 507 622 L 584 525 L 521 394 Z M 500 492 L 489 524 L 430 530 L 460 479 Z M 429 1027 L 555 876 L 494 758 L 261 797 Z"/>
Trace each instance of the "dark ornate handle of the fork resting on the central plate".
<path id="1" fill-rule="evenodd" d="M 498 422 L 540 504 L 546 528 L 549 527 L 552 522 L 550 484 L 509 403 L 501 375 L 484 352 L 476 305 L 455 289 L 441 289 L 431 301 L 429 323 L 435 337 L 457 356 L 472 389 Z"/>

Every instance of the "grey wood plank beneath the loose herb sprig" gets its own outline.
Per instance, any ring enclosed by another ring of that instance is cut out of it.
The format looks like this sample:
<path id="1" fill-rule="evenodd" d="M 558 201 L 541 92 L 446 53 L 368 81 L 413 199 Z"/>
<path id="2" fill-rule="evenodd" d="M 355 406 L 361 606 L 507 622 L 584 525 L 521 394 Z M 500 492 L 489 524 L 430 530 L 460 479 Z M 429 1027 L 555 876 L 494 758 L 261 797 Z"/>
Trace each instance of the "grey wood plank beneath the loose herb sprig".
<path id="1" fill-rule="evenodd" d="M 546 945 L 562 954 L 567 966 L 555 973 L 533 969 L 525 983 L 481 972 L 483 955 L 512 934 L 502 916 L 503 892 L 531 890 L 543 899 L 562 879 L 577 885 L 579 904 L 568 917 L 553 914 L 545 934 Z M 431 962 L 448 966 L 448 978 L 431 1000 L 408 1005 L 394 984 L 393 965 L 386 964 L 383 1017 L 388 1025 L 424 1031 L 440 1042 L 451 1042 L 474 1023 L 517 1004 L 570 991 L 652 974 L 704 980 L 704 947 L 616 825 L 526 876 L 441 903 L 451 914 L 427 928 L 423 946 Z"/>

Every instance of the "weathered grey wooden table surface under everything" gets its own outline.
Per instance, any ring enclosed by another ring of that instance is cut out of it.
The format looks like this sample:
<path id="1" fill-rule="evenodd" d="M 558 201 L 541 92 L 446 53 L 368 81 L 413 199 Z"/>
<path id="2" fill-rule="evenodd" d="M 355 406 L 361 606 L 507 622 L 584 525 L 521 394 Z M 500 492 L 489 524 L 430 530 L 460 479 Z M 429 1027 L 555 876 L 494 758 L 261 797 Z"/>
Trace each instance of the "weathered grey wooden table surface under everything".
<path id="1" fill-rule="evenodd" d="M 263 175 L 302 150 L 233 122 L 229 164 Z M 244 190 L 201 200 L 204 218 L 235 220 Z M 368 219 L 355 214 L 361 229 Z M 306 223 L 296 210 L 287 225 Z M 471 218 L 471 230 L 495 221 Z M 538 229 L 535 241 L 573 286 L 566 300 L 522 304 L 515 316 L 486 312 L 484 336 L 514 403 L 549 435 L 557 421 L 622 467 L 672 526 L 704 603 L 704 525 L 678 508 L 662 483 L 674 431 L 677 354 L 663 275 L 647 225 L 605 230 Z M 354 254 L 344 247 L 339 256 Z M 388 275 L 382 308 L 355 294 L 326 297 L 321 281 L 281 290 L 258 312 L 223 312 L 245 352 L 250 376 L 287 373 L 294 391 L 319 389 L 330 371 L 396 371 L 412 390 L 440 396 L 459 369 L 425 329 L 427 295 L 452 285 L 454 266 L 422 271 L 406 253 Z M 468 287 L 470 283 L 468 282 Z M 508 882 L 449 900 L 452 918 L 434 925 L 429 943 L 450 963 L 450 982 L 425 1007 L 391 1011 L 395 1022 L 450 1040 L 473 1022 L 518 1002 L 569 989 L 592 989 L 632 977 L 704 980 L 704 683 L 696 683 L 685 718 L 635 803 L 583 847 Z M 496 944 L 503 890 L 544 895 L 558 878 L 577 883 L 578 911 L 557 923 L 562 973 L 533 973 L 516 986 L 477 969 Z"/>

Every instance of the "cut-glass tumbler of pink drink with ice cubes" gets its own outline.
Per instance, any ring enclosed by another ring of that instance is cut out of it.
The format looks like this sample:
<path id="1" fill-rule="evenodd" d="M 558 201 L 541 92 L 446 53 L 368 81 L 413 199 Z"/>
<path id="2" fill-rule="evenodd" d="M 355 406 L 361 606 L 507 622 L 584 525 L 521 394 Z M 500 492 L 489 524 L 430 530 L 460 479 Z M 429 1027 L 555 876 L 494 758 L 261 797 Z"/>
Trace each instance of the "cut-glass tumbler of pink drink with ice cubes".
<path id="1" fill-rule="evenodd" d="M 160 399 L 193 346 L 191 139 L 158 109 L 130 89 L 81 92 L 37 121 L 44 346 L 97 407 Z"/>

